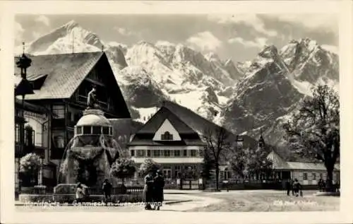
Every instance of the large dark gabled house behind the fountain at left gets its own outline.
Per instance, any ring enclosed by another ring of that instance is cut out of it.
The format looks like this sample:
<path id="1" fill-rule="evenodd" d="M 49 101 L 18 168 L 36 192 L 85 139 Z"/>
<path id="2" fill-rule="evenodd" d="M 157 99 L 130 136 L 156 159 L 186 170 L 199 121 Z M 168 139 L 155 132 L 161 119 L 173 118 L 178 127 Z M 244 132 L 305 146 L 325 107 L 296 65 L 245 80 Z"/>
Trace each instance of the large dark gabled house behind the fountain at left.
<path id="1" fill-rule="evenodd" d="M 104 52 L 49 54 L 30 56 L 30 59 L 32 65 L 28 68 L 27 79 L 35 94 L 26 95 L 25 100 L 45 107 L 52 114 L 47 122 L 42 122 L 49 131 L 47 160 L 59 165 L 73 137 L 73 126 L 87 107 L 87 96 L 93 86 L 105 117 L 131 119 Z M 15 76 L 20 76 L 16 66 Z"/>

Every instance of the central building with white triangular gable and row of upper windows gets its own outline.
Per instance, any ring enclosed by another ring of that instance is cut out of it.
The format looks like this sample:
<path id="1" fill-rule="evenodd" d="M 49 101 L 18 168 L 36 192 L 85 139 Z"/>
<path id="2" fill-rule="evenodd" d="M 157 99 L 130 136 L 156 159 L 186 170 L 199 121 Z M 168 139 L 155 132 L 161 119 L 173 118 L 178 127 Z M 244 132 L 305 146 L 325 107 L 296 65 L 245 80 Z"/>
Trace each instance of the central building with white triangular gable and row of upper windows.
<path id="1" fill-rule="evenodd" d="M 164 106 L 131 136 L 128 144 L 138 167 L 151 158 L 162 165 L 167 182 L 177 184 L 177 179 L 181 179 L 183 188 L 196 189 L 204 147 L 197 132 Z M 136 178 L 142 179 L 137 172 Z"/>

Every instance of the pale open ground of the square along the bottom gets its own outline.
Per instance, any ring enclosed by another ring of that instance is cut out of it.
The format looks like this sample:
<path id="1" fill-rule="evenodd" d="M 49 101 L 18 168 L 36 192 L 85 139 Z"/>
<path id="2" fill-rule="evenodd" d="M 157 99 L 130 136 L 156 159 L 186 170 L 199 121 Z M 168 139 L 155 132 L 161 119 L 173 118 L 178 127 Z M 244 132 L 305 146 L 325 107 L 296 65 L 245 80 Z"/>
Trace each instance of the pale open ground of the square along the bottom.
<path id="1" fill-rule="evenodd" d="M 166 190 L 166 204 L 161 211 L 338 211 L 340 198 L 313 196 L 316 191 L 304 191 L 304 197 L 287 196 L 285 191 L 179 191 Z M 181 201 L 181 202 L 180 202 Z M 17 211 L 97 211 L 154 212 L 143 206 L 16 206 Z"/>

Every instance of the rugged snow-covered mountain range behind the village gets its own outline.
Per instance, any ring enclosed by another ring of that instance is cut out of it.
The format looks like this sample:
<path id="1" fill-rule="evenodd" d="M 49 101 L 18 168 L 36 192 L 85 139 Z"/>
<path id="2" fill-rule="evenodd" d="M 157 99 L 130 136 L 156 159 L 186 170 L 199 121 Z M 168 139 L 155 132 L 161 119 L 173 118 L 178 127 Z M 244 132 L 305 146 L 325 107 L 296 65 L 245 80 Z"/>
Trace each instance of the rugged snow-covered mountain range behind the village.
<path id="1" fill-rule="evenodd" d="M 314 40 L 264 46 L 253 61 L 222 61 L 185 45 L 104 42 L 71 21 L 26 47 L 29 54 L 107 53 L 133 119 L 144 122 L 161 100 L 171 100 L 234 133 L 278 143 L 278 126 L 318 83 L 338 90 L 338 56 Z M 16 53 L 22 47 L 16 48 Z M 275 121 L 275 122 L 274 122 Z"/>

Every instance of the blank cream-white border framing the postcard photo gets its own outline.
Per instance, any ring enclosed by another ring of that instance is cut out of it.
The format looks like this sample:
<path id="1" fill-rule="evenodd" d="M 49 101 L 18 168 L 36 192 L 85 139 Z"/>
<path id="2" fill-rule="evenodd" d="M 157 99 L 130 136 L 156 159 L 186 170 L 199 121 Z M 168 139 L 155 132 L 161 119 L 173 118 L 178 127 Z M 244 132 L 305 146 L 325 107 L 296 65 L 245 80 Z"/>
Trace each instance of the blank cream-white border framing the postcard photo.
<path id="1" fill-rule="evenodd" d="M 1 1 L 1 223 L 352 223 L 352 1 Z M 16 14 L 337 13 L 340 17 L 340 211 L 136 213 L 16 212 L 14 206 L 13 40 Z"/>

